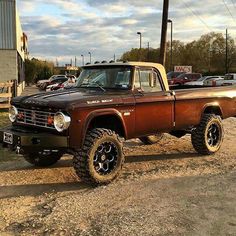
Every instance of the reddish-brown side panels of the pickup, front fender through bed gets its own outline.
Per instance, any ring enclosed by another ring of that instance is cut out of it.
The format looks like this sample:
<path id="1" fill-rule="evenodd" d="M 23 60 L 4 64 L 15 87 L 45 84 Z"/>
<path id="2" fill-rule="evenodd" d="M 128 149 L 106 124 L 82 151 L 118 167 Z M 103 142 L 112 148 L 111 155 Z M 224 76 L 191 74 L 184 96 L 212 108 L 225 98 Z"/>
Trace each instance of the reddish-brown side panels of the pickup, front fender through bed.
<path id="1" fill-rule="evenodd" d="M 199 124 L 204 112 L 215 113 L 223 119 L 236 116 L 236 87 L 179 90 L 175 95 L 164 91 L 143 96 L 133 92 L 121 96 L 125 99 L 114 97 L 114 103 L 107 107 L 98 104 L 75 109 L 72 117 L 79 117 L 82 126 L 78 126 L 76 121 L 72 123 L 70 145 L 78 145 L 77 134 L 82 133 L 83 138 L 97 116 L 106 116 L 104 119 L 109 122 L 115 115 L 122 124 L 121 134 L 126 139 L 189 129 Z M 126 112 L 130 115 L 125 116 Z"/>

